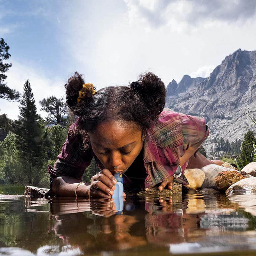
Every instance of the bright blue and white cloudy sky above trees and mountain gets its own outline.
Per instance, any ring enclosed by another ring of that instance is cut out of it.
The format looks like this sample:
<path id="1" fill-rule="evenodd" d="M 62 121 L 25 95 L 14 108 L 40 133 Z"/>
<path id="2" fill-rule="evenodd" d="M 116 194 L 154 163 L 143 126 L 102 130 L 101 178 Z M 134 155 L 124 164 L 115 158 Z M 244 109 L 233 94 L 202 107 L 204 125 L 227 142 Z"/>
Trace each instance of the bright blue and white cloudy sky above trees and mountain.
<path id="1" fill-rule="evenodd" d="M 7 85 L 29 79 L 39 100 L 65 97 L 75 71 L 97 89 L 128 85 L 151 71 L 165 86 L 208 77 L 232 52 L 256 50 L 254 0 L 0 0 L 0 38 L 12 55 Z M 0 99 L 0 115 L 19 115 Z"/>

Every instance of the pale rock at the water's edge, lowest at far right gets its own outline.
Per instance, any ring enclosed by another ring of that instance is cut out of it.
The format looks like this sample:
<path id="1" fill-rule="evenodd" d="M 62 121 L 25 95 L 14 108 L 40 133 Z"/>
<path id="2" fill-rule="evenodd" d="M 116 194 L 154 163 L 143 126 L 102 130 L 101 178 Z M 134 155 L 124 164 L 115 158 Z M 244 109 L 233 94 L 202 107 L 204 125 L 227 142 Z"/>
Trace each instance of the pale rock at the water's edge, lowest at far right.
<path id="1" fill-rule="evenodd" d="M 241 194 L 245 192 L 256 193 L 256 177 L 239 180 L 226 190 L 226 195 L 237 192 Z"/>

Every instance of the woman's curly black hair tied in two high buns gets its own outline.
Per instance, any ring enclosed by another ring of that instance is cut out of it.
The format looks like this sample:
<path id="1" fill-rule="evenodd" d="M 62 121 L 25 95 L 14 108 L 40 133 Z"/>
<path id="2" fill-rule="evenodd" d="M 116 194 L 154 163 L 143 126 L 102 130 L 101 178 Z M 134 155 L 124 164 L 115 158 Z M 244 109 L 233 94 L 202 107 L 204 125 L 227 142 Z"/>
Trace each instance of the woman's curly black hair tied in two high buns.
<path id="1" fill-rule="evenodd" d="M 98 124 L 111 119 L 132 121 L 145 134 L 164 109 L 165 86 L 152 72 L 139 75 L 138 81 L 129 86 L 108 86 L 78 102 L 83 84 L 82 75 L 75 72 L 65 88 L 67 105 L 79 117 L 77 124 L 84 142 L 88 132 L 95 132 Z M 88 147 L 85 145 L 85 148 Z"/>

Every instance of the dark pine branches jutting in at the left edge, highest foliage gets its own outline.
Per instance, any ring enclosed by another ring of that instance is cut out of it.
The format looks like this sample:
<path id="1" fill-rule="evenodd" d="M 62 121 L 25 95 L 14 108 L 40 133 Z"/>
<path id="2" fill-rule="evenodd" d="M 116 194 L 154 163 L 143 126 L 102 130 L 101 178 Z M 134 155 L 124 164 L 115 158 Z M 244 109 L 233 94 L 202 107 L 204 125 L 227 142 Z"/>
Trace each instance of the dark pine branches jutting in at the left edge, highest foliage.
<path id="1" fill-rule="evenodd" d="M 5 60 L 8 60 L 11 57 L 11 54 L 8 52 L 9 46 L 4 42 L 4 38 L 0 39 L 0 98 L 5 100 L 17 100 L 20 97 L 20 93 L 10 89 L 4 80 L 7 76 L 4 74 L 12 67 L 12 63 L 6 63 Z"/>

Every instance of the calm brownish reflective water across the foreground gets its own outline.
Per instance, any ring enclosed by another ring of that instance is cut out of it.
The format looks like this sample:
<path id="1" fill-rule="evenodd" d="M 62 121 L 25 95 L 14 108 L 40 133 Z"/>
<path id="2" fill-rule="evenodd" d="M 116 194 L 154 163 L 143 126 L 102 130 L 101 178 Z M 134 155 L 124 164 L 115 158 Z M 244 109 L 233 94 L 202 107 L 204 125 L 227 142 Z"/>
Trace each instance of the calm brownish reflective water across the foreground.
<path id="1" fill-rule="evenodd" d="M 0 200 L 0 255 L 255 255 L 256 195 Z"/>

